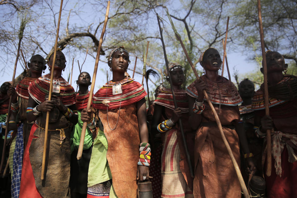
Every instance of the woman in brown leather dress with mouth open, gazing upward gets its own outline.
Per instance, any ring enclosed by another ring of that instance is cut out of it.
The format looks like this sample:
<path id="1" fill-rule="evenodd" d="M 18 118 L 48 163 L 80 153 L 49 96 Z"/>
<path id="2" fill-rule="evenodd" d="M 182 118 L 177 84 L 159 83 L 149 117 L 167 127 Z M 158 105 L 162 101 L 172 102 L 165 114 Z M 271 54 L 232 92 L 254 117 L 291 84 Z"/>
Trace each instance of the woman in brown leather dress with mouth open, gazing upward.
<path id="1" fill-rule="evenodd" d="M 223 132 L 240 164 L 239 141 L 246 154 L 250 173 L 254 169 L 245 137 L 238 105 L 242 103 L 235 85 L 218 75 L 222 59 L 214 48 L 206 49 L 200 56 L 205 75 L 195 80 L 186 91 L 189 99 L 189 123 L 196 130 L 194 197 L 241 197 L 241 187 L 236 172 L 219 135 L 219 129 L 208 103 L 204 103 L 203 90 L 209 95 L 222 123 Z"/>

